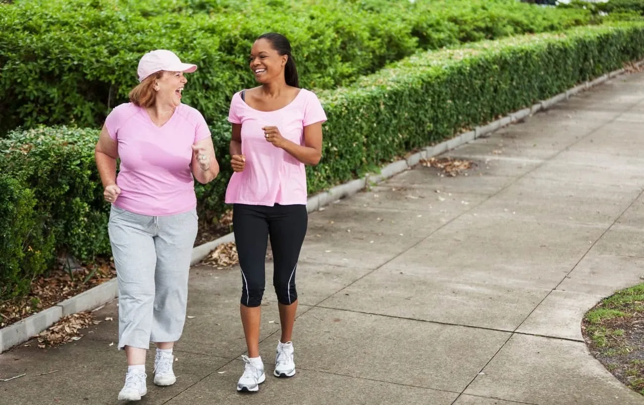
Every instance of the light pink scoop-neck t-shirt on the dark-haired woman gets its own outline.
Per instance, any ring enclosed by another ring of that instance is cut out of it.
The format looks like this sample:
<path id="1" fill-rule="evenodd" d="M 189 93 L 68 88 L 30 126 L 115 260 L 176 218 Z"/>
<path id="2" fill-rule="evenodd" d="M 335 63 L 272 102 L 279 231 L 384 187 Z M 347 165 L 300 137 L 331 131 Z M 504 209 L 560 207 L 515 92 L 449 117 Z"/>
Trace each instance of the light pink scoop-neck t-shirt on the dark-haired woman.
<path id="1" fill-rule="evenodd" d="M 276 111 L 263 112 L 232 96 L 228 121 L 242 124 L 242 154 L 246 166 L 232 173 L 226 189 L 227 204 L 306 204 L 307 174 L 304 164 L 264 137 L 263 126 L 277 126 L 283 137 L 304 145 L 304 127 L 327 121 L 317 96 L 301 89 L 295 99 Z"/>

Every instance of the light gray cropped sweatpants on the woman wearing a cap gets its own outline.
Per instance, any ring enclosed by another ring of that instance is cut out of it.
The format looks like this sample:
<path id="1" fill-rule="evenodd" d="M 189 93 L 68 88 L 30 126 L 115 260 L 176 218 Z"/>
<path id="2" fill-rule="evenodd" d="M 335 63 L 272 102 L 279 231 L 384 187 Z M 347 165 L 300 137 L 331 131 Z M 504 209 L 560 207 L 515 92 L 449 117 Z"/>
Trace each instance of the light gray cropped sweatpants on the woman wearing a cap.
<path id="1" fill-rule="evenodd" d="M 117 268 L 118 348 L 148 349 L 181 337 L 196 210 L 151 217 L 112 206 L 109 241 Z"/>

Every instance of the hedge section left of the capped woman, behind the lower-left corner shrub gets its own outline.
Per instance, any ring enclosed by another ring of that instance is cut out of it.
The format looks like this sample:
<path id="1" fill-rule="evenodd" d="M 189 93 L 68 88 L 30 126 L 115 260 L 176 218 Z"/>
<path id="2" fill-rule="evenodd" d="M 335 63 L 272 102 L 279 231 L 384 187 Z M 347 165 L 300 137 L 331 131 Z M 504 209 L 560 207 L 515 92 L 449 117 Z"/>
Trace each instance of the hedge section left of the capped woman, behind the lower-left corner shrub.
<path id="1" fill-rule="evenodd" d="M 57 252 L 81 261 L 109 253 L 108 204 L 94 162 L 98 131 L 69 127 L 16 130 L 0 141 L 3 173 L 24 181 L 33 209 L 55 235 Z"/>

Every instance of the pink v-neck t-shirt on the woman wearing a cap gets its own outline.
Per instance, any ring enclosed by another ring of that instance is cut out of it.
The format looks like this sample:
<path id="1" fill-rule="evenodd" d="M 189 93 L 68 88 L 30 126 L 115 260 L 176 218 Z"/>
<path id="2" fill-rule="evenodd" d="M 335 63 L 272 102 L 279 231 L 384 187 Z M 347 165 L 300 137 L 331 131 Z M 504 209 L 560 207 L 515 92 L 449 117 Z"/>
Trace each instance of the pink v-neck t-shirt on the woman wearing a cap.
<path id="1" fill-rule="evenodd" d="M 196 206 L 192 145 L 211 136 L 200 112 L 179 104 L 169 121 L 158 127 L 145 108 L 125 103 L 109 113 L 105 126 L 118 142 L 120 157 L 121 193 L 115 206 L 152 216 L 183 213 Z"/>

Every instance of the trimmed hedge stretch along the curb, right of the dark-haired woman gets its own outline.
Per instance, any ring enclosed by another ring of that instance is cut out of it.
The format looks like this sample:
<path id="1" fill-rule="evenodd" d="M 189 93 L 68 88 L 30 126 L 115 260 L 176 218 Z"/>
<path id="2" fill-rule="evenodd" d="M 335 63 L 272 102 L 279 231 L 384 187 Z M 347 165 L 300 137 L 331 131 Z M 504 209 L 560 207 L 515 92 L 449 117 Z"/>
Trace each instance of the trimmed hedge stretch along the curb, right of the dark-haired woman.
<path id="1" fill-rule="evenodd" d="M 420 53 L 319 92 L 328 114 L 312 190 L 530 106 L 644 56 L 644 24 L 576 28 Z"/>

